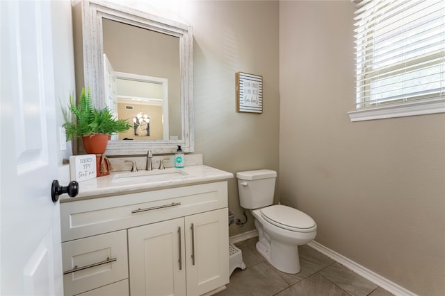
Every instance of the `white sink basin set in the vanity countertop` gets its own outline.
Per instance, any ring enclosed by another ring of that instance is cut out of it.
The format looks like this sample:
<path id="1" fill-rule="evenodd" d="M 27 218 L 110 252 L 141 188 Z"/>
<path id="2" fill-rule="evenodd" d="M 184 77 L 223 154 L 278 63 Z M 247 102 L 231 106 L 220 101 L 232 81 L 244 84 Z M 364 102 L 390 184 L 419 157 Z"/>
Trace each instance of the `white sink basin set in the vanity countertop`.
<path id="1" fill-rule="evenodd" d="M 113 183 L 121 182 L 150 182 L 168 181 L 187 177 L 188 173 L 176 169 L 138 171 L 132 173 L 122 173 L 113 177 Z"/>

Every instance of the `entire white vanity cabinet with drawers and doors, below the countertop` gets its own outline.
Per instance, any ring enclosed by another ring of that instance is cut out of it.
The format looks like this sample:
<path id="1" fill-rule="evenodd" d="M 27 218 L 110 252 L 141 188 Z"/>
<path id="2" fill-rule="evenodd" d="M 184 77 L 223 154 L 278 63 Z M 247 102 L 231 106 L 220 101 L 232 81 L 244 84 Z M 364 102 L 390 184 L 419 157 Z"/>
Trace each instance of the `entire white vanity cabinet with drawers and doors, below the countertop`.
<path id="1" fill-rule="evenodd" d="M 194 296 L 229 282 L 227 181 L 70 200 L 60 219 L 65 296 Z"/>

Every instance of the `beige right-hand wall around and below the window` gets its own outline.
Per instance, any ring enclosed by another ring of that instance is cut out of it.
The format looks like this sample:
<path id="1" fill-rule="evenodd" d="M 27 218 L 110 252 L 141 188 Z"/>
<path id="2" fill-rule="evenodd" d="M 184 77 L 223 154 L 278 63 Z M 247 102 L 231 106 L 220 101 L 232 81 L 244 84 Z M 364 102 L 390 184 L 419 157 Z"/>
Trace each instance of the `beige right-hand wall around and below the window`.
<path id="1" fill-rule="evenodd" d="M 280 192 L 316 241 L 445 295 L 445 115 L 351 123 L 353 3 L 280 2 Z"/>

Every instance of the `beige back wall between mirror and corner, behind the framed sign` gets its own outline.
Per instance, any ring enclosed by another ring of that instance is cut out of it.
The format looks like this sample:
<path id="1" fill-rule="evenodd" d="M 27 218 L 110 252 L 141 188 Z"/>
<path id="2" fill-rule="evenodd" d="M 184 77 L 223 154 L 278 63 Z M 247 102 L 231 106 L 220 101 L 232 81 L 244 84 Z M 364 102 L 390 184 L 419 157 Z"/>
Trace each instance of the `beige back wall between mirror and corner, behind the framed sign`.
<path id="1" fill-rule="evenodd" d="M 195 141 L 204 164 L 229 171 L 278 170 L 280 132 L 278 1 L 191 1 Z M 235 73 L 263 76 L 263 114 L 237 113 Z M 244 220 L 236 179 L 229 209 Z M 254 229 L 229 227 L 231 236 Z"/>

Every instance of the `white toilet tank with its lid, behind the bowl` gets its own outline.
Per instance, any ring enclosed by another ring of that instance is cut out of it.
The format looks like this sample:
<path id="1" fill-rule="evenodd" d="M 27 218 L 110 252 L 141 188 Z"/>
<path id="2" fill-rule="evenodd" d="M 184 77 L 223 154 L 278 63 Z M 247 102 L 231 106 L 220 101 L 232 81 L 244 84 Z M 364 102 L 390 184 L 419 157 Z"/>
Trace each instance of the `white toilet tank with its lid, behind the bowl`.
<path id="1" fill-rule="evenodd" d="M 236 173 L 239 204 L 244 209 L 258 209 L 273 204 L 277 172 L 256 170 Z"/>

